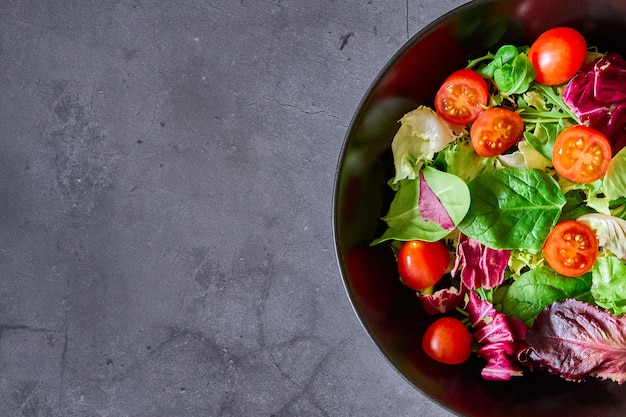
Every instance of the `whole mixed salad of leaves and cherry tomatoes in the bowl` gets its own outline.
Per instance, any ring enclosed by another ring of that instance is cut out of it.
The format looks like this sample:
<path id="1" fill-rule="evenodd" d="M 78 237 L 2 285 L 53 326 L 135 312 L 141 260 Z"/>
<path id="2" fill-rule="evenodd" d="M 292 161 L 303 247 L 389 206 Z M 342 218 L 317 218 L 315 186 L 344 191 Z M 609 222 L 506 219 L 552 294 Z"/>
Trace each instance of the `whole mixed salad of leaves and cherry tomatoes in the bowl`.
<path id="1" fill-rule="evenodd" d="M 489 380 L 626 381 L 626 62 L 554 28 L 470 61 L 433 107 L 400 120 L 372 242 L 446 318 L 426 353 L 471 350 Z"/>

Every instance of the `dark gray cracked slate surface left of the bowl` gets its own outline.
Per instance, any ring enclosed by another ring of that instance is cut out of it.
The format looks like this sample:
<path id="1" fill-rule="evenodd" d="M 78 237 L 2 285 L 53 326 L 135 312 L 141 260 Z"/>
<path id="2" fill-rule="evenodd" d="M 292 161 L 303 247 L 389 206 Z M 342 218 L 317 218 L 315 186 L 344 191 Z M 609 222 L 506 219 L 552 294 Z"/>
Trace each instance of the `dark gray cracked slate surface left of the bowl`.
<path id="1" fill-rule="evenodd" d="M 0 416 L 449 416 L 331 209 L 370 82 L 461 3 L 0 1 Z"/>

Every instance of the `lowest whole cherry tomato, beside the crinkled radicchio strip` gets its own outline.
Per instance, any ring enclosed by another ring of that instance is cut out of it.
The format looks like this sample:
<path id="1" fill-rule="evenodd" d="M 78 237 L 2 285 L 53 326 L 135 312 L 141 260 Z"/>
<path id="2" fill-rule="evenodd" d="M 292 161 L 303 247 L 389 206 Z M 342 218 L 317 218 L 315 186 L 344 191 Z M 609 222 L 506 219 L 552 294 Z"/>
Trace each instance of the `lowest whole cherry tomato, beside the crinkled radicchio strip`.
<path id="1" fill-rule="evenodd" d="M 470 357 L 472 336 L 459 320 L 442 317 L 426 329 L 422 348 L 436 361 L 457 365 Z"/>

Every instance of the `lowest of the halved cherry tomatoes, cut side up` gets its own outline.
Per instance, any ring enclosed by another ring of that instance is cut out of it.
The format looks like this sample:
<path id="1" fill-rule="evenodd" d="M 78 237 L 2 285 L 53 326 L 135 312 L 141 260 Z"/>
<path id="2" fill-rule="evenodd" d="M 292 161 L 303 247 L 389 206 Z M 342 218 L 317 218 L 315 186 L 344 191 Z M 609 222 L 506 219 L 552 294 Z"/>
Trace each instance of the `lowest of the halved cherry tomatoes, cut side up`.
<path id="1" fill-rule="evenodd" d="M 543 245 L 548 265 L 559 274 L 578 277 L 591 270 L 598 258 L 598 239 L 591 227 L 576 220 L 557 224 Z"/>

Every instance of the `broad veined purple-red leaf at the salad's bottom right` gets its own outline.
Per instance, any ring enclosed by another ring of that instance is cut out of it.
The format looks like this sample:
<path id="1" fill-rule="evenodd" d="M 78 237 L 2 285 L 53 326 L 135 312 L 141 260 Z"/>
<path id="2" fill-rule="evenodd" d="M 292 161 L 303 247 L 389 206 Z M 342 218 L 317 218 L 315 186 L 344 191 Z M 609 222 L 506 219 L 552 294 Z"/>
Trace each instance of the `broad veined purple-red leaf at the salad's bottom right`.
<path id="1" fill-rule="evenodd" d="M 568 381 L 626 381 L 626 317 L 582 301 L 548 306 L 528 330 L 529 358 Z"/>

